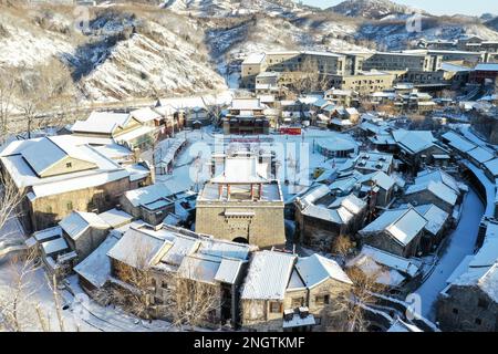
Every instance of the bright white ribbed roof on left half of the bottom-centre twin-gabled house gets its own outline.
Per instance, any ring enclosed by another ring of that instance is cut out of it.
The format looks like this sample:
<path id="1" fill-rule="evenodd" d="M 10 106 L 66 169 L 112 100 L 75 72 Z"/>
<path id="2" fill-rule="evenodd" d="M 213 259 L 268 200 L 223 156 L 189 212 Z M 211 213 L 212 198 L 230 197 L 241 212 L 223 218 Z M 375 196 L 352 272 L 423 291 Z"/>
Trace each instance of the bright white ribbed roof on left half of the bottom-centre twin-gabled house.
<path id="1" fill-rule="evenodd" d="M 242 285 L 242 300 L 283 300 L 297 257 L 294 254 L 256 252 Z"/>

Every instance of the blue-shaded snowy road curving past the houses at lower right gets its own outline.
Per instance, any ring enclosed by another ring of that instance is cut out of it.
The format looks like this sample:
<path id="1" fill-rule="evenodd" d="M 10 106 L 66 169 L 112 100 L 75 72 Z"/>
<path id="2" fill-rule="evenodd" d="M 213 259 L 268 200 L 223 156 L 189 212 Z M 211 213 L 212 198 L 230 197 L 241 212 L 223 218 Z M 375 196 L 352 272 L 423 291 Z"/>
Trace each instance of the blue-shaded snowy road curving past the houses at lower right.
<path id="1" fill-rule="evenodd" d="M 485 206 L 474 189 L 465 197 L 460 222 L 449 236 L 449 244 L 439 259 L 434 272 L 416 291 L 422 298 L 422 314 L 428 320 L 435 320 L 435 303 L 439 292 L 446 288 L 446 280 L 458 267 L 461 260 L 474 253 L 480 219 Z"/>

